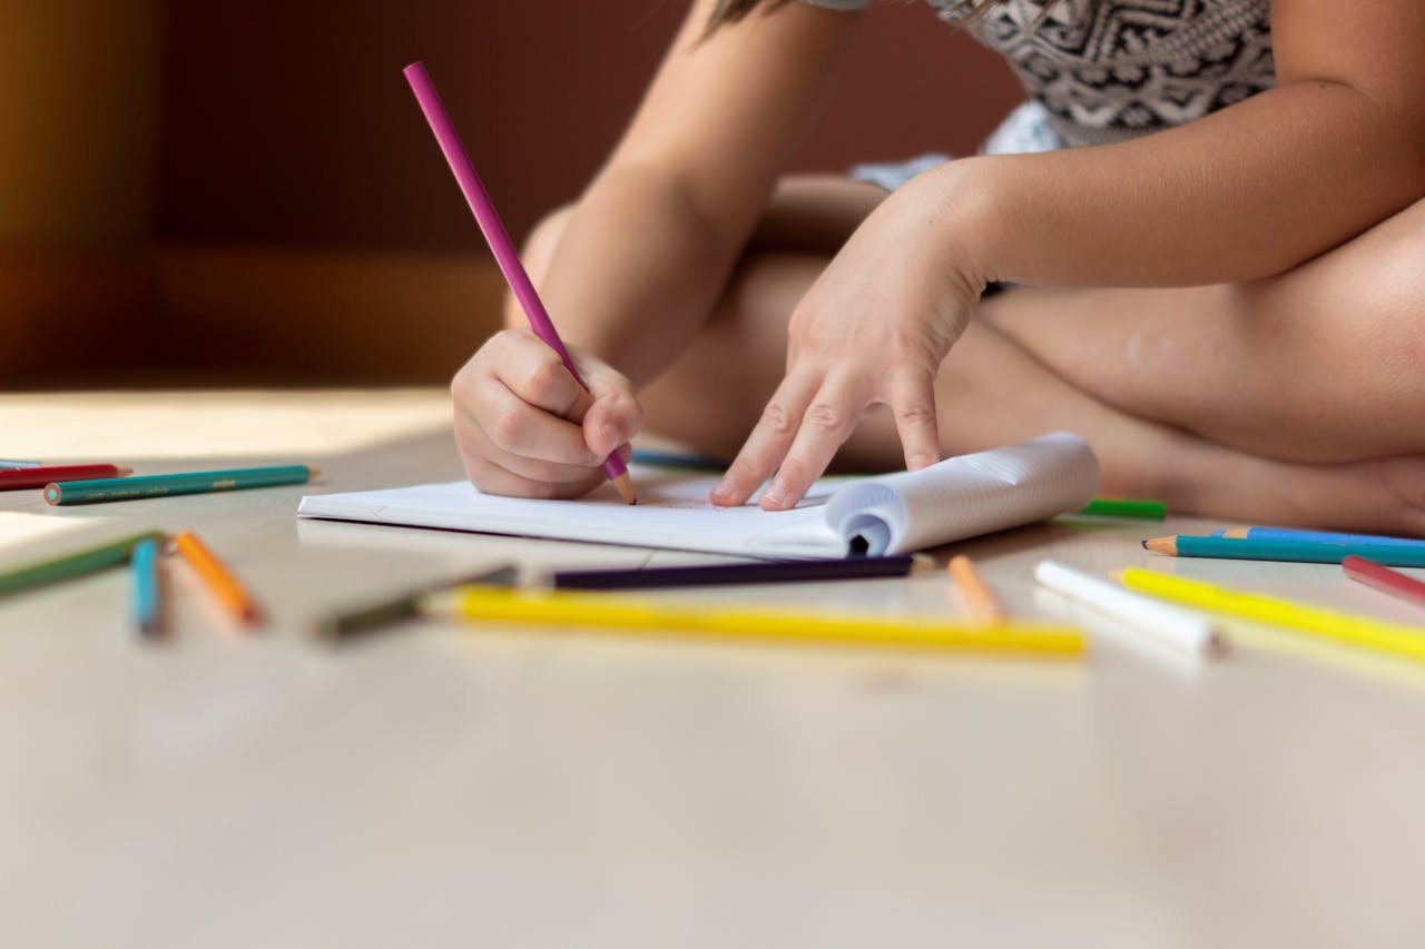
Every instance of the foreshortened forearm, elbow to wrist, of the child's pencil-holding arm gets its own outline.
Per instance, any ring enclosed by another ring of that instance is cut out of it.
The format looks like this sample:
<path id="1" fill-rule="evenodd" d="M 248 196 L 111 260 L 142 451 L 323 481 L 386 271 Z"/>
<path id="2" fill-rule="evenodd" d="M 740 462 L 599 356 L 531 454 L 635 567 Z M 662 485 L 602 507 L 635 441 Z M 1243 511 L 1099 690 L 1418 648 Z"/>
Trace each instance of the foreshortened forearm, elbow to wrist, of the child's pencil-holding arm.
<path id="1" fill-rule="evenodd" d="M 643 385 L 711 312 L 737 249 L 674 180 L 613 165 L 576 205 L 540 291 L 567 342 Z"/>

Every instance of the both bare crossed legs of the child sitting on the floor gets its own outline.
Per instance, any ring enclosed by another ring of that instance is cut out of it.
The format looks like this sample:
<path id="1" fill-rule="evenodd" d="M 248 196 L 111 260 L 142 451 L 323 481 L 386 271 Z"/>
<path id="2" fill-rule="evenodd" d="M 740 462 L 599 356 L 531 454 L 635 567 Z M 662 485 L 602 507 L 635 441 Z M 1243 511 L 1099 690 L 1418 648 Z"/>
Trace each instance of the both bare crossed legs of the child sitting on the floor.
<path id="1" fill-rule="evenodd" d="M 651 432 L 724 457 L 737 452 L 781 379 L 792 308 L 881 197 L 838 178 L 791 178 L 778 190 L 703 332 L 646 390 Z M 536 281 L 560 224 L 556 215 L 532 238 Z M 1332 322 L 1359 306 L 1337 309 L 1324 296 L 1325 265 L 1337 268 L 1328 258 L 1253 286 L 995 296 L 939 373 L 942 449 L 1067 429 L 1093 445 L 1106 493 L 1227 519 L 1425 533 L 1425 457 L 1401 456 L 1425 445 L 1404 425 L 1375 423 L 1404 415 L 1411 385 L 1425 386 L 1406 372 L 1409 333 L 1375 326 L 1342 358 L 1338 348 L 1369 319 Z M 1310 319 L 1292 323 L 1312 301 Z M 1368 352 L 1379 345 L 1391 348 L 1388 372 L 1352 390 L 1352 373 L 1379 368 Z M 1317 365 L 1340 365 L 1341 376 L 1322 379 Z M 871 412 L 838 463 L 899 467 L 891 419 Z"/>

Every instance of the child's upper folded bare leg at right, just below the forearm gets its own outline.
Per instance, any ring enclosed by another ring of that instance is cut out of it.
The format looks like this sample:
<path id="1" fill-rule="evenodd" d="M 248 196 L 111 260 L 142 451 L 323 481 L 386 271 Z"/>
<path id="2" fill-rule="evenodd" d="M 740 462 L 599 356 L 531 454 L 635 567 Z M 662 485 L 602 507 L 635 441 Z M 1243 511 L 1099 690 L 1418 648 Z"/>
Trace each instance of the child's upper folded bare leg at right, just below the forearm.
<path id="1" fill-rule="evenodd" d="M 1023 289 L 982 315 L 1109 405 L 1244 450 L 1425 450 L 1425 201 L 1271 279 Z"/>

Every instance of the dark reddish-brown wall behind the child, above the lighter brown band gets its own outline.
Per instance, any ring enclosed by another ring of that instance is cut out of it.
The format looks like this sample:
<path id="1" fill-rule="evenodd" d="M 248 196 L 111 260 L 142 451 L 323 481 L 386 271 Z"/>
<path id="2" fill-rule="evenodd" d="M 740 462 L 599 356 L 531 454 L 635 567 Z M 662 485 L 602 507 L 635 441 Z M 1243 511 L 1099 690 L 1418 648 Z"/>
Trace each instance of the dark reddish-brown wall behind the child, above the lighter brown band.
<path id="1" fill-rule="evenodd" d="M 160 238 L 466 249 L 479 237 L 400 76 L 422 58 L 514 234 L 579 192 L 681 0 L 167 0 Z M 1017 100 L 919 3 L 868 16 L 804 168 L 973 150 Z"/>

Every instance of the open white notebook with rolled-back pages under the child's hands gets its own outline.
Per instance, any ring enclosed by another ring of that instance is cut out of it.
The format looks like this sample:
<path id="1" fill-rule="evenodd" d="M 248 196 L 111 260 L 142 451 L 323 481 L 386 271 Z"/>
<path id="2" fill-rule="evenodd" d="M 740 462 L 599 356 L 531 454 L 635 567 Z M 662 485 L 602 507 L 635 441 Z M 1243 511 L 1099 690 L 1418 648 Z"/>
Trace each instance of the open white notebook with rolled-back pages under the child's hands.
<path id="1" fill-rule="evenodd" d="M 579 500 L 483 494 L 467 482 L 343 494 L 311 494 L 299 517 L 440 527 L 747 557 L 845 557 L 911 553 L 1079 510 L 1099 463 L 1087 442 L 1057 432 L 962 455 L 918 472 L 826 477 L 785 512 L 755 499 L 714 507 L 717 477 L 630 466 L 638 503 L 604 484 Z"/>

